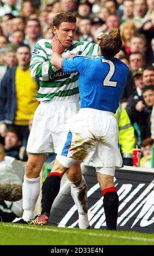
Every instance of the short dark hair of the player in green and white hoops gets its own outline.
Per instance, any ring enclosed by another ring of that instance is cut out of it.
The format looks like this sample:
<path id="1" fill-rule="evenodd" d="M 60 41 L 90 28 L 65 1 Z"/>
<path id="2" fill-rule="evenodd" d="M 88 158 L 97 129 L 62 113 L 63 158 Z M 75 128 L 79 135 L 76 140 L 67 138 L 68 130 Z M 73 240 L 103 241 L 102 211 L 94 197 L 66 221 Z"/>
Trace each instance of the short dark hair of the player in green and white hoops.
<path id="1" fill-rule="evenodd" d="M 64 13 L 57 14 L 52 22 L 52 27 L 55 26 L 59 28 L 60 24 L 62 22 L 75 22 L 76 23 L 77 19 L 75 15 L 70 13 L 70 11 L 65 11 Z"/>

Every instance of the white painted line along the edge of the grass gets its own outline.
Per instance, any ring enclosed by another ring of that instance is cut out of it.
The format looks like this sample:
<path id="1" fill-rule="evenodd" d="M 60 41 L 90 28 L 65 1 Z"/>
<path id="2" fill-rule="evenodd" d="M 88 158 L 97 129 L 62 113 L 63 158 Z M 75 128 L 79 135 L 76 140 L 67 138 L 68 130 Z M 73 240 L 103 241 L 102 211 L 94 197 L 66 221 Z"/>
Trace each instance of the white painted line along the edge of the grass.
<path id="1" fill-rule="evenodd" d="M 9 228 L 21 228 L 21 229 L 31 229 L 31 230 L 39 230 L 39 231 L 50 231 L 50 232 L 57 232 L 57 233 L 69 233 L 69 234 L 78 234 L 78 231 L 76 230 L 60 230 L 58 229 L 52 229 L 52 228 L 47 228 L 44 227 L 44 229 L 40 229 L 39 227 L 34 227 L 34 226 L 27 226 L 27 225 L 21 225 L 21 224 L 13 224 L 12 225 L 8 225 L 8 224 L 2 224 L 3 227 L 9 227 Z M 101 230 L 102 231 L 102 230 Z M 154 239 L 150 239 L 150 238 L 144 238 L 144 237 L 133 237 L 133 236 L 121 236 L 121 235 L 113 235 L 113 234 L 102 234 L 102 233 L 90 233 L 87 232 L 85 233 L 84 231 L 81 231 L 81 229 L 79 230 L 80 234 L 83 235 L 89 235 L 89 236 L 103 236 L 103 237 L 114 237 L 114 238 L 120 238 L 120 239 L 130 239 L 130 240 L 138 240 L 138 241 L 145 241 L 145 242 L 154 242 Z"/>

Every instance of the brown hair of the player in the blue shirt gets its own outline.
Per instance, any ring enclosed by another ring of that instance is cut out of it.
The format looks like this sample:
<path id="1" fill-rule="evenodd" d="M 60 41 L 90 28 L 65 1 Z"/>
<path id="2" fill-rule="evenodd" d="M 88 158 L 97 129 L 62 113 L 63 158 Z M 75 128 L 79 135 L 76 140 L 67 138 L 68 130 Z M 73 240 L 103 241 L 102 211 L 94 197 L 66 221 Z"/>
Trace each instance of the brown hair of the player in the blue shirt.
<path id="1" fill-rule="evenodd" d="M 113 58 L 122 48 L 120 29 L 114 28 L 101 39 L 101 54 L 106 58 Z"/>

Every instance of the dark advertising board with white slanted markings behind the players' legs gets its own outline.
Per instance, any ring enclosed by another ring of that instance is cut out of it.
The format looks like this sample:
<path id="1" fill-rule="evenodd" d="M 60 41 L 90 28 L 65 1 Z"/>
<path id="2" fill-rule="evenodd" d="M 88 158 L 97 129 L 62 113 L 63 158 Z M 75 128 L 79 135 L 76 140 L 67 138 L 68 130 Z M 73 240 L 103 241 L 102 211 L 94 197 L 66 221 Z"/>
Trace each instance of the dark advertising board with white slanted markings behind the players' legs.
<path id="1" fill-rule="evenodd" d="M 82 164 L 88 185 L 88 217 L 91 228 L 106 229 L 103 197 L 95 168 Z M 119 194 L 118 230 L 153 233 L 154 230 L 154 169 L 125 166 L 116 170 L 115 186 Z M 58 227 L 78 227 L 78 213 L 64 175 L 60 192 L 53 204 L 50 224 Z"/>

